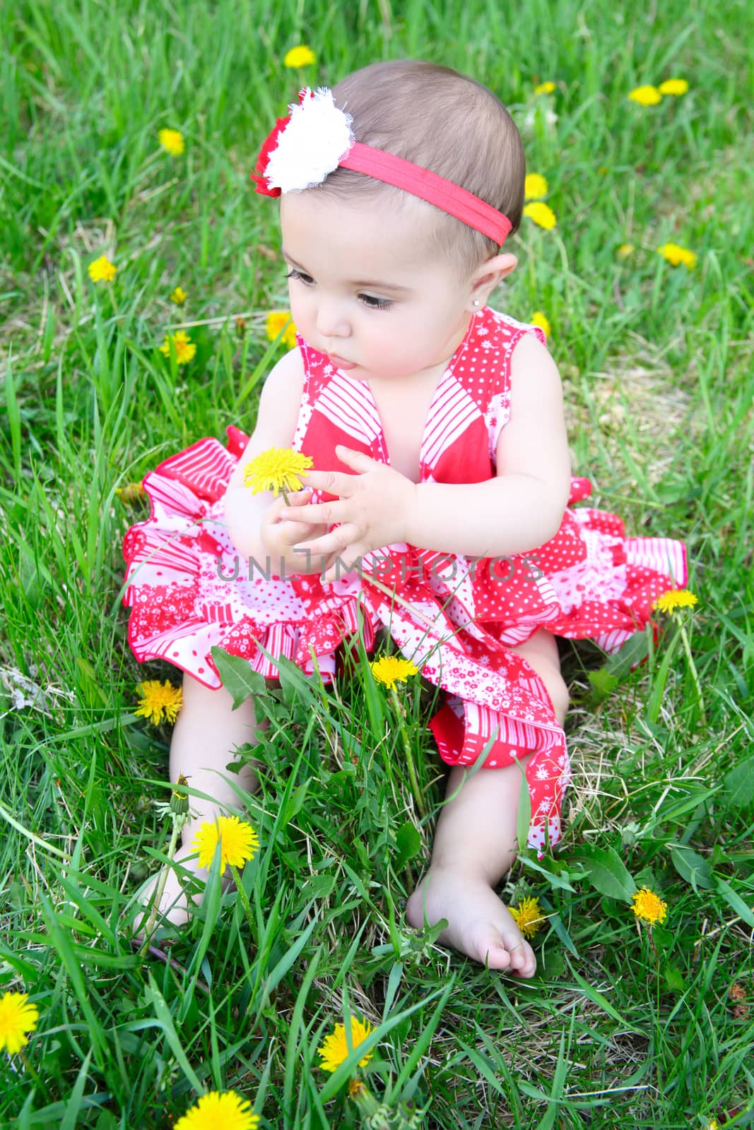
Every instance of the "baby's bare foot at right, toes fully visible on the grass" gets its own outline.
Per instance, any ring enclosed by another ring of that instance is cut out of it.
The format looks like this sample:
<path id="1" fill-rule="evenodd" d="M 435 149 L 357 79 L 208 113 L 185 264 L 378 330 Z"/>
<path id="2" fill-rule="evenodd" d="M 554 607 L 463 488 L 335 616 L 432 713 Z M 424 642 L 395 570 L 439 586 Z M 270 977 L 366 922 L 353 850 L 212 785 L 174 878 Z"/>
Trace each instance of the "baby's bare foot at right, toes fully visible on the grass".
<path id="1" fill-rule="evenodd" d="M 449 868 L 431 868 L 406 904 L 406 918 L 416 929 L 448 919 L 440 941 L 491 970 L 534 976 L 534 950 L 509 909 L 484 879 Z"/>

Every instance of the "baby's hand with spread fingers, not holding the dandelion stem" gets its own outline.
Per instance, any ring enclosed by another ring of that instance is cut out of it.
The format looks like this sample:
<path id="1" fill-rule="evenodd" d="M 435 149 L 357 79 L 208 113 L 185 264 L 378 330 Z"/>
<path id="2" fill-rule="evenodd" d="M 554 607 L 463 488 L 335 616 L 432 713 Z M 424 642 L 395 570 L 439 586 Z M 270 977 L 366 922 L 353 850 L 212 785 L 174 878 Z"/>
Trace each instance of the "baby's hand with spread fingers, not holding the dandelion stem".
<path id="1" fill-rule="evenodd" d="M 361 451 L 338 445 L 336 454 L 357 475 L 341 471 L 307 471 L 306 481 L 338 501 L 304 505 L 297 510 L 298 521 L 320 523 L 324 527 L 339 522 L 330 533 L 314 540 L 300 542 L 300 549 L 335 562 L 338 557 L 347 568 L 353 568 L 361 557 L 373 549 L 406 541 L 406 529 L 415 505 L 416 484 L 385 463 L 371 459 Z M 293 520 L 294 508 L 283 507 L 283 519 Z M 332 580 L 326 574 L 326 580 Z"/>

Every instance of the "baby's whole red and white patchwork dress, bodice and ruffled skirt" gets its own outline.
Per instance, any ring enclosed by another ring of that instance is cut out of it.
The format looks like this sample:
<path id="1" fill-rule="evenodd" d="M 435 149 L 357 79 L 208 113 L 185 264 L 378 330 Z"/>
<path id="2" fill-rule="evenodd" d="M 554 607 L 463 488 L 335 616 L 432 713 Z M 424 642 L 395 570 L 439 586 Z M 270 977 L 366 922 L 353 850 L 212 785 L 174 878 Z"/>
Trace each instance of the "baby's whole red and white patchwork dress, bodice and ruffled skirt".
<path id="1" fill-rule="evenodd" d="M 489 307 L 471 316 L 441 377 L 425 423 L 421 481 L 482 483 L 495 475 L 495 451 L 510 416 L 510 362 L 523 333 L 545 337 Z M 388 462 L 380 417 L 366 383 L 335 368 L 298 338 L 305 382 L 293 446 L 320 470 L 345 469 L 338 443 Z M 592 637 L 614 651 L 648 623 L 652 603 L 686 583 L 682 542 L 626 538 L 615 514 L 569 507 L 555 537 L 509 558 L 469 558 L 393 545 L 370 554 L 361 574 L 323 585 L 319 576 L 270 576 L 265 563 L 239 559 L 224 522 L 223 495 L 246 436 L 228 427 L 166 459 L 144 479 L 151 515 L 128 531 L 124 603 L 129 643 L 141 662 L 163 659 L 208 687 L 220 686 L 210 649 L 243 655 L 275 676 L 285 655 L 307 673 L 311 653 L 326 680 L 338 645 L 363 621 L 367 650 L 384 625 L 400 652 L 441 687 L 432 719 L 449 765 L 510 765 L 534 754 L 529 843 L 560 838 L 570 779 L 565 737 L 532 668 L 510 649 L 546 627 Z M 572 480 L 570 503 L 588 498 Z M 321 493 L 315 493 L 317 502 Z M 371 574 L 376 584 L 372 583 Z M 385 590 L 388 590 L 385 592 Z"/>

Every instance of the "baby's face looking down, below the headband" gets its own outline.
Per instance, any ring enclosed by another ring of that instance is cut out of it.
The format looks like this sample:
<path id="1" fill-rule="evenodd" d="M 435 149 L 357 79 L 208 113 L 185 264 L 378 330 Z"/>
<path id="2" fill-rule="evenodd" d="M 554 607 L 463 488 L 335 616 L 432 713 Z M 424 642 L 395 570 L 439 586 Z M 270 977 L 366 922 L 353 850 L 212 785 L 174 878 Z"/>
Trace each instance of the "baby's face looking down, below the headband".
<path id="1" fill-rule="evenodd" d="M 414 376 L 452 357 L 468 328 L 468 289 L 426 253 L 432 207 L 318 197 L 280 199 L 291 312 L 302 337 L 357 380 Z M 341 365 L 352 362 L 353 367 Z"/>

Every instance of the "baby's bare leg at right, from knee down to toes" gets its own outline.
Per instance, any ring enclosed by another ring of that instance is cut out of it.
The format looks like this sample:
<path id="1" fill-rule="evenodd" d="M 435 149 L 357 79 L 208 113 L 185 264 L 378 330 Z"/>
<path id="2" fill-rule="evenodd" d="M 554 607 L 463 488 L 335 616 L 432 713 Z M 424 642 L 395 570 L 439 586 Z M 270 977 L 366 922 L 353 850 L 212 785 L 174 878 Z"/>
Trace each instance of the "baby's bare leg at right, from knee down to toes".
<path id="1" fill-rule="evenodd" d="M 539 631 L 513 649 L 537 671 L 561 722 L 567 690 L 561 677 L 557 646 Z M 440 940 L 491 970 L 534 975 L 537 963 L 495 887 L 510 870 L 517 850 L 517 815 L 521 768 L 528 758 L 499 770 L 478 770 L 474 776 L 454 767 L 448 781 L 449 801 L 440 814 L 430 870 L 408 899 L 406 916 L 417 929 L 448 919 Z"/>

